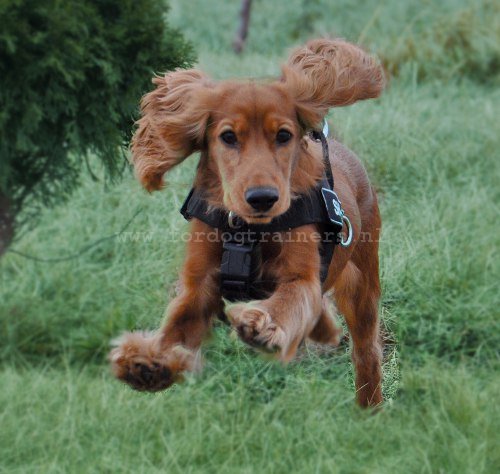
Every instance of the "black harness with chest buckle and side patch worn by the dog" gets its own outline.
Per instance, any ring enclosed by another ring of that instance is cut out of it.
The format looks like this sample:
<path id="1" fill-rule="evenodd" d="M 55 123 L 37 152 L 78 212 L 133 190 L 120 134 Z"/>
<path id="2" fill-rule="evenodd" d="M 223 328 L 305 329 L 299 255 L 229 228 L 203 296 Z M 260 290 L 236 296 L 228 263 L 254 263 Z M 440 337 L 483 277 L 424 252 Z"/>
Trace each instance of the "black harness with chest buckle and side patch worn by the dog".
<path id="1" fill-rule="evenodd" d="M 308 194 L 292 200 L 287 212 L 269 224 L 250 225 L 220 208 L 209 207 L 203 192 L 192 188 L 181 208 L 185 219 L 195 217 L 222 232 L 223 252 L 220 284 L 222 296 L 229 301 L 262 299 L 269 282 L 259 280 L 258 269 L 262 260 L 261 243 L 273 241 L 272 236 L 307 224 L 317 224 L 321 230 L 320 279 L 324 283 L 332 261 L 335 244 L 342 232 L 344 211 L 333 190 L 328 142 L 320 131 L 311 138 L 321 141 L 324 172 L 318 185 Z"/>

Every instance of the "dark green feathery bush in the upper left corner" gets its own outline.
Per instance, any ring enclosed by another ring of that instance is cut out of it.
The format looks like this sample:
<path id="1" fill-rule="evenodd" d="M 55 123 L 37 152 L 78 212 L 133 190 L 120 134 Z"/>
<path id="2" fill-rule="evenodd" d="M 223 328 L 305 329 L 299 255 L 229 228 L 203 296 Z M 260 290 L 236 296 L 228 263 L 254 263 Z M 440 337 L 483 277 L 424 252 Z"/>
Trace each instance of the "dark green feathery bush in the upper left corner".
<path id="1" fill-rule="evenodd" d="M 107 178 L 124 168 L 152 73 L 193 61 L 166 11 L 158 0 L 0 0 L 0 254 L 2 227 L 67 197 L 89 155 Z"/>

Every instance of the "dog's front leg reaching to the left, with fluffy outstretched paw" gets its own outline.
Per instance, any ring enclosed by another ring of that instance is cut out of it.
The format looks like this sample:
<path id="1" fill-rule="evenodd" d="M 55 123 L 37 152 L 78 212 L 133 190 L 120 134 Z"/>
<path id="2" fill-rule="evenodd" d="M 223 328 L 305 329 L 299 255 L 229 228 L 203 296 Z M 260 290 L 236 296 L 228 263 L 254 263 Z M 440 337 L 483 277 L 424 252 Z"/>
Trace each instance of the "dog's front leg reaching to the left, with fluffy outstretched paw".
<path id="1" fill-rule="evenodd" d="M 132 332 L 110 353 L 115 376 L 137 390 L 163 390 L 200 368 L 200 346 L 212 316 L 220 311 L 218 267 L 221 244 L 216 231 L 194 220 L 187 244 L 179 295 L 156 332 Z"/>

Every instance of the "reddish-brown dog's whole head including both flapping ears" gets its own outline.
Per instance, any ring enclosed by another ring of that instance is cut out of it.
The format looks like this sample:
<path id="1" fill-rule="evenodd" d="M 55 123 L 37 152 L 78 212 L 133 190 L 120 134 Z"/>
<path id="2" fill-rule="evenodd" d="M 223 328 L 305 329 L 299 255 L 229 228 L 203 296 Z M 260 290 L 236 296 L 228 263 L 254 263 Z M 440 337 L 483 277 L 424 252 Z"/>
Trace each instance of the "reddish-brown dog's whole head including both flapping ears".
<path id="1" fill-rule="evenodd" d="M 293 52 L 276 81 L 216 83 L 177 70 L 153 82 L 132 141 L 146 189 L 160 189 L 169 169 L 201 151 L 196 185 L 209 202 L 248 223 L 267 223 L 320 176 L 307 132 L 330 107 L 377 97 L 384 76 L 357 46 L 320 39 Z"/>

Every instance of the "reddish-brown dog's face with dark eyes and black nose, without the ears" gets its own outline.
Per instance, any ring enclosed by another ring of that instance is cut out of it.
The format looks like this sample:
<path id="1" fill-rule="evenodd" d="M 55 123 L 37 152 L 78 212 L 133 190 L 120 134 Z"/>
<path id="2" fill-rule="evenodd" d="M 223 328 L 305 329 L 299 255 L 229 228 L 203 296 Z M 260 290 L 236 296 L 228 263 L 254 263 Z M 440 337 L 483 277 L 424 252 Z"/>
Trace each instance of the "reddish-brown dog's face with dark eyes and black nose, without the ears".
<path id="1" fill-rule="evenodd" d="M 290 206 L 303 136 L 294 102 L 277 84 L 226 82 L 215 94 L 207 166 L 220 181 L 226 209 L 249 223 L 267 223 Z"/>

